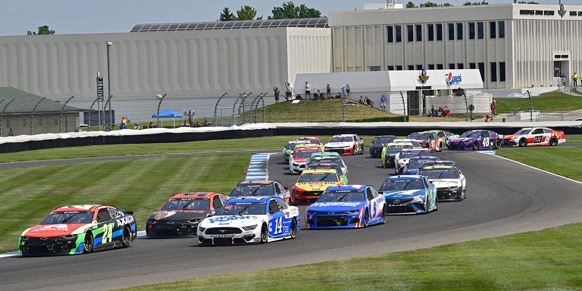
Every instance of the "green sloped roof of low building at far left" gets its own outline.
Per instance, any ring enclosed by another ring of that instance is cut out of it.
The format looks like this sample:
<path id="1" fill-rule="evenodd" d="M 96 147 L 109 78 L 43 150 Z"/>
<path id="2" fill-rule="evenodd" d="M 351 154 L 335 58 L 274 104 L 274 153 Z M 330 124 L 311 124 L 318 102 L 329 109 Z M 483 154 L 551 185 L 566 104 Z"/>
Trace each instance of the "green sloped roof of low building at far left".
<path id="1" fill-rule="evenodd" d="M 34 108 L 34 105 L 36 105 L 38 100 L 42 97 L 12 87 L 0 87 L 0 100 L 3 99 L 3 101 L 0 102 L 0 112 L 2 112 L 2 109 L 4 109 L 6 104 L 8 104 L 8 102 L 13 98 L 14 101 L 6 107 L 4 114 L 30 113 Z M 61 109 L 63 109 L 61 103 L 50 99 L 44 99 L 38 104 L 34 113 L 60 113 Z M 65 106 L 63 112 L 79 112 L 84 110 L 85 109 Z"/>

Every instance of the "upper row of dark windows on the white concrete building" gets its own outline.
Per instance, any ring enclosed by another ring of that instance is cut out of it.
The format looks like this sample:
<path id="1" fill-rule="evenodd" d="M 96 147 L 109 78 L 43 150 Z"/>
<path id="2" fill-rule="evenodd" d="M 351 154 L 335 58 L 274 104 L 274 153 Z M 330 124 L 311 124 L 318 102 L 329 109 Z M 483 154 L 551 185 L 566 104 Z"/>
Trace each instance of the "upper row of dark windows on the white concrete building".
<path id="1" fill-rule="evenodd" d="M 414 36 L 416 36 L 416 41 L 423 41 L 423 25 L 424 24 L 408 24 L 406 26 L 407 40 L 409 42 L 414 41 Z M 463 40 L 463 23 L 448 23 L 449 29 L 449 40 Z M 435 40 L 435 34 L 437 41 L 442 40 L 443 29 L 442 24 L 426 24 L 427 26 L 427 37 L 428 41 Z M 436 30 L 435 30 L 436 27 Z M 455 30 L 456 27 L 456 30 Z M 476 27 L 476 29 L 475 29 Z M 416 33 L 415 33 L 416 31 Z M 470 22 L 469 23 L 469 39 L 482 40 L 484 38 L 484 23 L 483 22 Z M 396 33 L 395 33 L 396 32 Z M 456 32 L 456 33 L 455 33 Z M 456 38 L 455 38 L 456 36 Z M 489 38 L 505 38 L 505 22 L 489 22 Z M 388 42 L 402 42 L 402 26 L 388 26 Z"/>

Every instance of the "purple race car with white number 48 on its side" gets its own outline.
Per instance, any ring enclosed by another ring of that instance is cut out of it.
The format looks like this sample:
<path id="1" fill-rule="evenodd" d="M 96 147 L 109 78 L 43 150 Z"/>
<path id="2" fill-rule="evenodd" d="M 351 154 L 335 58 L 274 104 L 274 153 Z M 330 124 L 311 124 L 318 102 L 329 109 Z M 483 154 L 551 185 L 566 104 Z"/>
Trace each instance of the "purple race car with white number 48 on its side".
<path id="1" fill-rule="evenodd" d="M 501 147 L 503 136 L 491 130 L 470 130 L 461 134 L 458 139 L 449 141 L 449 150 L 481 150 Z"/>

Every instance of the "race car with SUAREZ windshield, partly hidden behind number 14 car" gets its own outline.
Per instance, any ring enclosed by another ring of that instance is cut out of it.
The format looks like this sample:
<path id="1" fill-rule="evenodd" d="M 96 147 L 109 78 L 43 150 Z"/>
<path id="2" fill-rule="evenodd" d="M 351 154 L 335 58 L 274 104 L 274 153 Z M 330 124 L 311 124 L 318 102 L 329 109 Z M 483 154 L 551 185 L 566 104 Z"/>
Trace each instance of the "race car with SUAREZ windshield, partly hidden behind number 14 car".
<path id="1" fill-rule="evenodd" d="M 257 180 L 243 181 L 236 184 L 235 188 L 230 191 L 228 198 L 241 196 L 275 196 L 289 203 L 289 190 L 279 181 Z"/>

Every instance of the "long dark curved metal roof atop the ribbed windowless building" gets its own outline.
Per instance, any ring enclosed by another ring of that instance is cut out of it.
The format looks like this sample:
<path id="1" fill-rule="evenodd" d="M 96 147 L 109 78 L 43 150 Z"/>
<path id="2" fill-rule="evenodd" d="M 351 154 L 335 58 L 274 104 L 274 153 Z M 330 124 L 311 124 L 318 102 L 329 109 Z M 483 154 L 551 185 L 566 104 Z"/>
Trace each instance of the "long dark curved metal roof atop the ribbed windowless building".
<path id="1" fill-rule="evenodd" d="M 298 19 L 235 20 L 213 22 L 136 24 L 130 32 L 214 29 L 264 29 L 268 27 L 328 27 L 327 17 Z"/>

